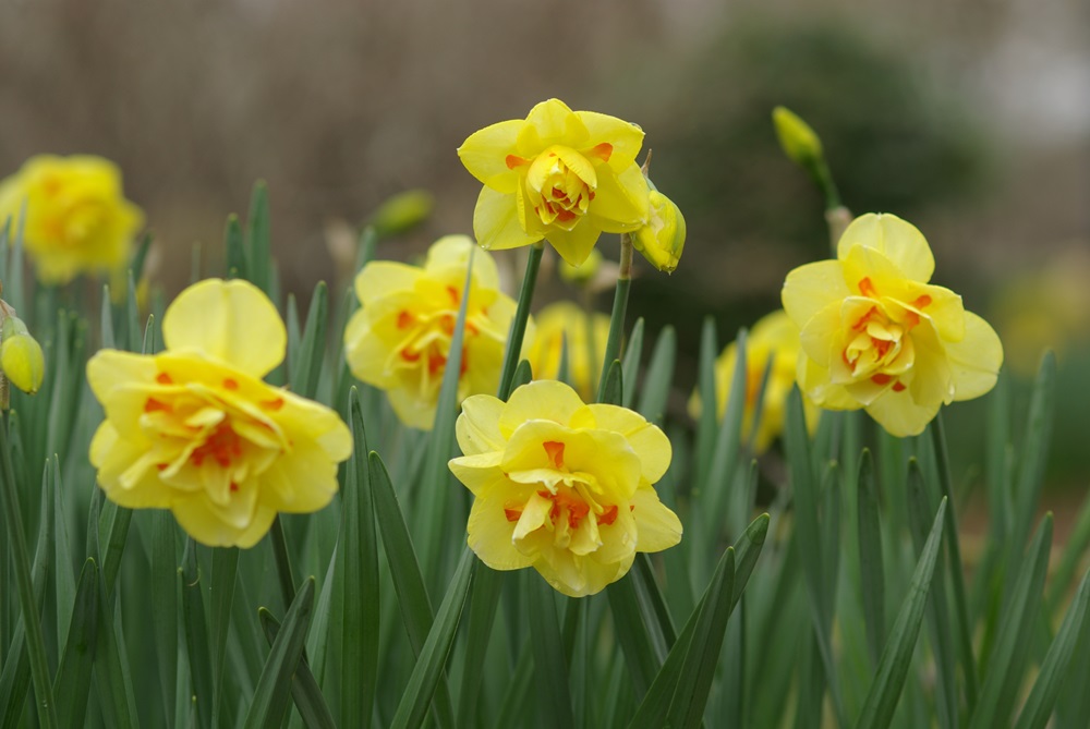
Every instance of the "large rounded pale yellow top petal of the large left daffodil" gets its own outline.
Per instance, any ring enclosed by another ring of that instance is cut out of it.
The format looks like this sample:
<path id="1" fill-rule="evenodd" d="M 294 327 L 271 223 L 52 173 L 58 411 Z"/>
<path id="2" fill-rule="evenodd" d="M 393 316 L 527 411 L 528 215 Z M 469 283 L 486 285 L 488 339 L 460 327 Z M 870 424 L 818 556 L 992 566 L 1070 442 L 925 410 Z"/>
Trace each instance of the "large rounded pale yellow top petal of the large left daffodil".
<path id="1" fill-rule="evenodd" d="M 264 377 L 283 361 L 288 332 L 276 306 L 249 281 L 208 279 L 185 289 L 167 308 L 168 349 L 192 349 Z"/>

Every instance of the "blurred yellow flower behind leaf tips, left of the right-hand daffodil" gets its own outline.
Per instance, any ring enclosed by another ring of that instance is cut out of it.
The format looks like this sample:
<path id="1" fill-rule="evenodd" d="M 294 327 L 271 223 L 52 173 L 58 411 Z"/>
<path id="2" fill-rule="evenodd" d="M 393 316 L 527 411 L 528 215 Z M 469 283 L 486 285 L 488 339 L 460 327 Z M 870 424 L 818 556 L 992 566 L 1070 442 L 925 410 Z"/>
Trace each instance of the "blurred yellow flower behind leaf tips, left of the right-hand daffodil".
<path id="1" fill-rule="evenodd" d="M 768 360 L 772 360 L 770 367 Z M 742 439 L 753 437 L 753 450 L 762 453 L 784 430 L 784 415 L 787 396 L 796 381 L 799 362 L 799 328 L 783 309 L 762 317 L 746 338 L 746 411 L 742 415 Z M 730 396 L 730 382 L 738 366 L 738 345 L 731 342 L 715 361 L 716 414 L 723 417 Z M 753 435 L 753 417 L 756 414 L 758 397 L 765 367 L 768 368 L 768 384 L 765 386 L 764 403 L 756 434 Z M 811 432 L 818 425 L 818 408 L 806 394 L 802 398 L 807 425 Z M 689 399 L 689 412 L 700 417 L 701 399 L 693 392 Z"/>

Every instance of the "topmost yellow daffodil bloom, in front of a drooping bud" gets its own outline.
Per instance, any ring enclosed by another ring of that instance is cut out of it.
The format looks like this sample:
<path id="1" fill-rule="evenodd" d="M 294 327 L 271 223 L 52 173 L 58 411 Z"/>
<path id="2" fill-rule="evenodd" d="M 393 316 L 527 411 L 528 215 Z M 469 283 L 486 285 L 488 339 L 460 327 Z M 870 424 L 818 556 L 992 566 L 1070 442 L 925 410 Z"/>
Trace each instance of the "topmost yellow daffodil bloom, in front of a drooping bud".
<path id="1" fill-rule="evenodd" d="M 474 132 L 458 149 L 484 183 L 473 232 L 485 248 L 513 248 L 543 238 L 569 264 L 586 259 L 598 235 L 628 233 L 649 221 L 649 187 L 635 156 L 643 132 L 593 111 L 549 99 Z"/>

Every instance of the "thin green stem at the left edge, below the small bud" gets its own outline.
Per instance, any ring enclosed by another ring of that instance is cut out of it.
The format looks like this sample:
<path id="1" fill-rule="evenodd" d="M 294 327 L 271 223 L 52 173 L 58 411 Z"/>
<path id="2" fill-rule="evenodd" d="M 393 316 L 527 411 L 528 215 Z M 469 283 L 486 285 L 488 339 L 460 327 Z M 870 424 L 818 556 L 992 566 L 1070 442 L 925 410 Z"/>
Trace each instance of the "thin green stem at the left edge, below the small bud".
<path id="1" fill-rule="evenodd" d="M 23 532 L 22 510 L 15 490 L 15 474 L 8 450 L 8 423 L 0 421 L 0 479 L 3 481 L 3 513 L 8 522 L 8 534 L 15 563 L 15 587 L 19 591 L 19 608 L 23 613 L 26 630 L 26 647 L 31 658 L 31 676 L 34 680 L 34 695 L 37 700 L 38 722 L 43 727 L 57 726 L 57 708 L 53 706 L 53 688 L 46 658 L 46 642 L 41 634 L 41 621 L 34 599 L 31 582 L 31 561 L 26 550 L 26 534 Z"/>

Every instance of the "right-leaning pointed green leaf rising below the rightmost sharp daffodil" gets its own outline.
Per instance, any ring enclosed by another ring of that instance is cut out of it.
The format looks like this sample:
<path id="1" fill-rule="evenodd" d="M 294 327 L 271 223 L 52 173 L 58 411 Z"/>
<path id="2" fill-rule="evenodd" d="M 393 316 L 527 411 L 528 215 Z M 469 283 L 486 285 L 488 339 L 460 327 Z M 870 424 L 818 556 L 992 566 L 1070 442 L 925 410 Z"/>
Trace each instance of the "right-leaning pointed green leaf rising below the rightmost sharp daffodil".
<path id="1" fill-rule="evenodd" d="M 931 588 L 931 578 L 938 558 L 938 547 L 943 537 L 943 520 L 946 514 L 946 499 L 938 505 L 931 533 L 923 545 L 923 551 L 916 563 L 908 595 L 901 603 L 897 619 L 894 621 L 889 637 L 886 640 L 882 656 L 879 658 L 874 680 L 867 692 L 867 700 L 859 716 L 858 729 L 875 729 L 888 727 L 893 720 L 894 709 L 900 700 L 900 693 L 912 663 L 912 652 L 920 634 L 920 623 L 923 622 L 923 609 L 928 604 L 928 593 Z"/>

